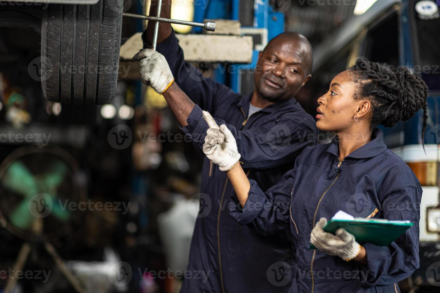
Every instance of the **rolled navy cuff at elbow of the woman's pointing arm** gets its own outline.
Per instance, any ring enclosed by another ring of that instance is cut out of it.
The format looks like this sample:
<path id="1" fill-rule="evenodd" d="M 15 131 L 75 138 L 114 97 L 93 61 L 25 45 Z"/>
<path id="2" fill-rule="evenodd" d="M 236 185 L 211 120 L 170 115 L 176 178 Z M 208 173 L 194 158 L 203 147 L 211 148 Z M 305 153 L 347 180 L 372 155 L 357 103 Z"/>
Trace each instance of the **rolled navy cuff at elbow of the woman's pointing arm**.
<path id="1" fill-rule="evenodd" d="M 260 214 L 261 210 L 264 209 L 264 204 L 266 203 L 266 196 L 258 187 L 257 182 L 249 180 L 250 190 L 248 198 L 246 199 L 245 206 L 238 203 L 237 200 L 231 201 L 229 208 L 229 215 L 238 223 L 246 225 L 251 223 Z"/>

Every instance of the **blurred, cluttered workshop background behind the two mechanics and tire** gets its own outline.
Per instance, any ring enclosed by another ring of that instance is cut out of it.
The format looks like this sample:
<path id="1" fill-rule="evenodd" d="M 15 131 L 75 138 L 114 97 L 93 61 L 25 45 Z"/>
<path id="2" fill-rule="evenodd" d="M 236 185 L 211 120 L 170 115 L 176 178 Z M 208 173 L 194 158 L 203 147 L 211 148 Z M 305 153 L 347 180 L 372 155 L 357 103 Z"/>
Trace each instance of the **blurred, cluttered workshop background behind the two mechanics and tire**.
<path id="1" fill-rule="evenodd" d="M 421 113 L 386 130 L 385 142 L 424 189 L 421 267 L 400 288 L 439 292 L 440 1 L 172 2 L 172 18 L 216 21 L 214 33 L 173 25 L 198 78 L 245 94 L 268 40 L 304 34 L 314 48 L 313 77 L 297 100 L 312 116 L 330 80 L 357 58 L 405 65 L 426 81 L 426 155 Z M 125 0 L 124 12 L 148 14 L 149 4 Z M 164 98 L 139 80 L 131 57 L 147 22 L 123 18 L 114 98 L 66 105 L 44 97 L 38 28 L 12 21 L 22 11 L 40 19 L 51 5 L 0 5 L 0 292 L 178 292 L 198 216 L 202 156 Z"/>

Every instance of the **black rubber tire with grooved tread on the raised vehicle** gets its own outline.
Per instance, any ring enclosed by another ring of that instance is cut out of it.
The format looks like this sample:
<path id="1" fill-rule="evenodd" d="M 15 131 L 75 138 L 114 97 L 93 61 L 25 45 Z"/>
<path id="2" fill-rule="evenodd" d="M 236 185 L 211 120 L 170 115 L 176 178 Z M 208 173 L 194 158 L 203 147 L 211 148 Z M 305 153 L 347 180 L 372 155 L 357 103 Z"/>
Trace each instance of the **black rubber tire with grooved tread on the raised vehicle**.
<path id="1" fill-rule="evenodd" d="M 102 105 L 113 97 L 124 0 L 50 4 L 41 26 L 41 86 L 49 101 Z"/>

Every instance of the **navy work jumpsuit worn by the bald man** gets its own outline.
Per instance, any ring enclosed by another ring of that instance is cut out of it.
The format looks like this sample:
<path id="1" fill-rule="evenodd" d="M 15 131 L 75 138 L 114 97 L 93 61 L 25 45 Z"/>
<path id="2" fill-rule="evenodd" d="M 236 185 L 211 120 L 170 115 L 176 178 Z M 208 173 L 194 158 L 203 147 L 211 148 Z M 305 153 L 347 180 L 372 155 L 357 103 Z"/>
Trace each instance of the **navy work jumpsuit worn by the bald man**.
<path id="1" fill-rule="evenodd" d="M 144 45 L 145 36 L 143 37 Z M 315 120 L 292 97 L 254 113 L 247 119 L 251 94 L 237 94 L 229 87 L 205 79 L 183 59 L 183 51 L 174 32 L 158 44 L 158 52 L 169 63 L 177 85 L 196 106 L 182 128 L 202 152 L 208 125 L 202 109 L 220 124 L 226 124 L 237 140 L 242 167 L 250 178 L 266 190 L 293 166 L 306 146 L 315 145 Z M 265 237 L 238 224 L 229 216 L 231 183 L 218 166 L 205 158 L 201 180 L 201 207 L 191 242 L 188 270 L 205 271 L 201 279 L 183 280 L 182 293 L 288 292 L 290 279 L 269 275 L 276 261 L 294 267 L 290 233 L 280 231 Z M 271 274 L 271 273 L 270 273 Z"/>

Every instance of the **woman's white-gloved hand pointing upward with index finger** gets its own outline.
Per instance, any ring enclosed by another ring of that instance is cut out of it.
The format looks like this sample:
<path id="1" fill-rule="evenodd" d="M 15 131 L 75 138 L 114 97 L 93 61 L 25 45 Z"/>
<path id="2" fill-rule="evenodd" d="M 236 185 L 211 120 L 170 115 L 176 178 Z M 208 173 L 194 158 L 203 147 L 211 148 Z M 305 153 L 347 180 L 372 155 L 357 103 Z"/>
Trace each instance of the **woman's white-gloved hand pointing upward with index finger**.
<path id="1" fill-rule="evenodd" d="M 209 112 L 203 111 L 202 115 L 209 126 L 206 131 L 203 152 L 208 159 L 219 166 L 220 171 L 231 170 L 232 166 L 240 159 L 234 135 L 226 125 L 222 124 L 219 127 Z"/>

